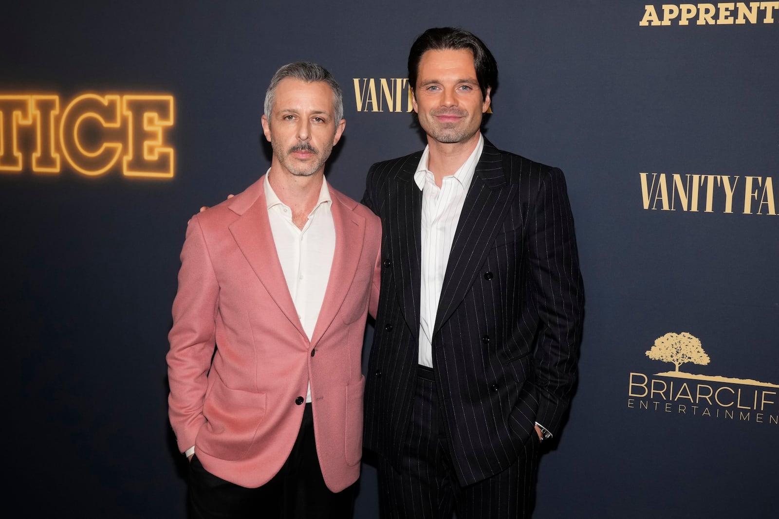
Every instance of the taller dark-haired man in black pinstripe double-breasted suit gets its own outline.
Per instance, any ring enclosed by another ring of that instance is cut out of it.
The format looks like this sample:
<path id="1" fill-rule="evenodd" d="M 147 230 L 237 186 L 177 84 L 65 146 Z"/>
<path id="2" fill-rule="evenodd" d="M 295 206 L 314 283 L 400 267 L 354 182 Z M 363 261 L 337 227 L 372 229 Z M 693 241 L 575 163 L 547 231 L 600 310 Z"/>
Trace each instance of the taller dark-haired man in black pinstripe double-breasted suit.
<path id="1" fill-rule="evenodd" d="M 583 284 L 556 168 L 481 135 L 497 65 L 430 29 L 408 77 L 425 150 L 376 163 L 382 280 L 365 387 L 382 517 L 528 517 L 576 381 Z"/>

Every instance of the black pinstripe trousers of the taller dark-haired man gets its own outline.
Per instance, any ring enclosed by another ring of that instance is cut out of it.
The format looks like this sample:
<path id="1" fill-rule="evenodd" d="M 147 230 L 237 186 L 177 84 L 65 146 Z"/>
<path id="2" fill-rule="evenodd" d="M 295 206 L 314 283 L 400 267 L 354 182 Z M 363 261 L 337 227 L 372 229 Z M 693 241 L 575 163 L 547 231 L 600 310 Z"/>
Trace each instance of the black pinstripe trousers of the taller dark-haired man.
<path id="1" fill-rule="evenodd" d="M 402 466 L 379 456 L 379 507 L 383 519 L 515 519 L 530 517 L 541 445 L 533 433 L 525 457 L 503 472 L 460 486 L 442 428 L 433 372 L 420 366 Z"/>

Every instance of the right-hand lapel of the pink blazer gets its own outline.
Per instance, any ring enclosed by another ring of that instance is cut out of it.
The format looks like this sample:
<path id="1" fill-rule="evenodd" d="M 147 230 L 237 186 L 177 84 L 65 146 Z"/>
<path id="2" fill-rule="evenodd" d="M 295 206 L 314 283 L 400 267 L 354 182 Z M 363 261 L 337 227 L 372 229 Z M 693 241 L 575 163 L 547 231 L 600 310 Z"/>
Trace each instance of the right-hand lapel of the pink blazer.
<path id="1" fill-rule="evenodd" d="M 330 267 L 330 279 L 319 310 L 319 317 L 312 334 L 311 343 L 316 344 L 338 314 L 344 299 L 351 288 L 356 275 L 362 246 L 365 243 L 365 218 L 355 214 L 340 200 L 337 191 L 330 186 L 330 212 L 333 214 L 333 226 L 336 230 L 336 247 L 333 252 L 333 265 Z"/>

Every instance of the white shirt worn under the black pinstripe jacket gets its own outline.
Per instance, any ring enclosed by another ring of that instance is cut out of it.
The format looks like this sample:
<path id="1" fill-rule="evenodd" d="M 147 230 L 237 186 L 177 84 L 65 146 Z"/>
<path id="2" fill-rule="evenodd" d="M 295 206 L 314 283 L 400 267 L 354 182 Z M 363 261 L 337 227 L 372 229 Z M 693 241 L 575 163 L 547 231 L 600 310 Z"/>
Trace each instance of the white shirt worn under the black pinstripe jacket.
<path id="1" fill-rule="evenodd" d="M 423 366 L 433 367 L 432 328 L 441 298 L 443 276 L 465 196 L 471 187 L 484 144 L 484 137 L 479 135 L 479 142 L 471 156 L 453 175 L 443 177 L 440 188 L 435 185 L 435 177 L 428 170 L 429 146 L 425 146 L 414 173 L 414 181 L 422 191 L 419 363 Z"/>

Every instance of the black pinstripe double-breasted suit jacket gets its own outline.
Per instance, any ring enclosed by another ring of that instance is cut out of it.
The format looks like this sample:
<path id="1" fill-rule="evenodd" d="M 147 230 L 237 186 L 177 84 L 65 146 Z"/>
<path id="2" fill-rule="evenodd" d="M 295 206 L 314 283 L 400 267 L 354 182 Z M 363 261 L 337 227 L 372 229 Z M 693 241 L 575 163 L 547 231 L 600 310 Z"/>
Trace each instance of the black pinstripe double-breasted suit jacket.
<path id="1" fill-rule="evenodd" d="M 382 220 L 365 446 L 393 465 L 400 464 L 411 421 L 418 366 L 420 157 L 375 163 L 362 201 Z M 583 296 L 562 171 L 485 140 L 432 339 L 435 385 L 461 484 L 521 458 L 535 422 L 559 432 L 576 381 Z"/>

